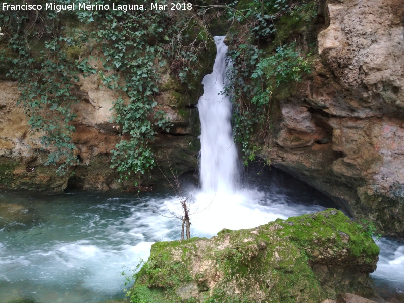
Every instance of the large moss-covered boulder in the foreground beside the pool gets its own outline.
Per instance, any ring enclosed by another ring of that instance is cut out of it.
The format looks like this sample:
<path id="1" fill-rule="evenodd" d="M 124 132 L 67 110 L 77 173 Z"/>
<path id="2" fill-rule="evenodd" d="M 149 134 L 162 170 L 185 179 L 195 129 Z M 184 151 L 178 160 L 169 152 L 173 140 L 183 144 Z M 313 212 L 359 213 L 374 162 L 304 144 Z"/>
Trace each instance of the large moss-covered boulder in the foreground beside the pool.
<path id="1" fill-rule="evenodd" d="M 133 303 L 316 302 L 366 294 L 379 248 L 342 212 L 158 242 L 129 291 Z"/>

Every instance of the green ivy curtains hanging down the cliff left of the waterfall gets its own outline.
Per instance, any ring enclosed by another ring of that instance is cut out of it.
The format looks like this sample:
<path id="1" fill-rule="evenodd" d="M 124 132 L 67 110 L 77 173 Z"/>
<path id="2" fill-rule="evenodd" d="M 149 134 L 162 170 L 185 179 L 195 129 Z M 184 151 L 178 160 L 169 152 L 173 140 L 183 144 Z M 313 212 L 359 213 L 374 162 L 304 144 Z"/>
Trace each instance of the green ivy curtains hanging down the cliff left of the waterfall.
<path id="1" fill-rule="evenodd" d="M 196 77 L 196 54 L 206 40 L 195 37 L 203 28 L 187 28 L 189 17 L 182 10 L 36 13 L 0 13 L 5 22 L 0 60 L 10 69 L 7 76 L 19 82 L 32 130 L 43 133 L 42 144 L 52 151 L 45 165 L 59 165 L 58 172 L 64 173 L 77 164 L 72 140 L 77 118 L 72 105 L 81 99 L 77 75 L 98 74 L 116 95 L 113 122 L 121 140 L 112 151 L 111 167 L 121 180 L 147 173 L 155 165 L 150 140 L 158 129 L 168 132 L 171 126 L 155 109 L 161 70 L 169 66 L 183 83 Z"/>

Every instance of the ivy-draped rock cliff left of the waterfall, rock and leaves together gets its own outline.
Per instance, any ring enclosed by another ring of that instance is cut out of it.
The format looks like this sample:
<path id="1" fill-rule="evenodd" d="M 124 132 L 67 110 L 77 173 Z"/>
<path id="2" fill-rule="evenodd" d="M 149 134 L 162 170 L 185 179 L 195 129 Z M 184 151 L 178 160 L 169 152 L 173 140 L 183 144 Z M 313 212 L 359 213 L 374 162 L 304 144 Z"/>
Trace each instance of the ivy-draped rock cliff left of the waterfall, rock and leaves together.
<path id="1" fill-rule="evenodd" d="M 195 171 L 215 43 L 191 4 L 124 7 L 0 13 L 0 186 L 145 189 Z"/>

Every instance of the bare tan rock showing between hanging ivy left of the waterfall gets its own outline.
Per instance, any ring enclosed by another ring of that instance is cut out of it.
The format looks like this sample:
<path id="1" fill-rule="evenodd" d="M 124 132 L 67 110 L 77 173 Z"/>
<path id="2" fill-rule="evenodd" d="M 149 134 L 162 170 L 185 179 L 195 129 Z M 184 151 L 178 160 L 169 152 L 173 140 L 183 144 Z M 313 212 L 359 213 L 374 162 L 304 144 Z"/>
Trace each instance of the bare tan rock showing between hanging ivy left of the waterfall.
<path id="1" fill-rule="evenodd" d="M 119 188 L 117 172 L 110 168 L 111 150 L 119 142 L 117 126 L 111 111 L 116 96 L 100 86 L 98 75 L 80 76 L 81 102 L 74 104 L 77 119 L 72 139 L 80 163 L 71 169 L 74 175 L 56 176 L 54 166 L 44 166 L 52 146 L 41 144 L 42 133 L 33 133 L 22 105 L 17 105 L 19 92 L 16 82 L 0 81 L 0 186 L 16 189 L 64 190 L 66 188 L 108 190 Z M 199 151 L 199 119 L 191 97 L 174 75 L 163 72 L 161 93 L 156 96 L 155 110 L 164 110 L 173 124 L 170 132 L 158 132 L 151 142 L 156 160 L 170 177 L 169 164 L 180 175 L 197 166 Z M 71 171 L 69 173 L 71 173 Z M 143 186 L 151 180 L 164 178 L 160 169 L 151 172 Z M 128 182 L 128 186 L 133 185 Z M 153 183 L 152 183 L 153 185 Z"/>

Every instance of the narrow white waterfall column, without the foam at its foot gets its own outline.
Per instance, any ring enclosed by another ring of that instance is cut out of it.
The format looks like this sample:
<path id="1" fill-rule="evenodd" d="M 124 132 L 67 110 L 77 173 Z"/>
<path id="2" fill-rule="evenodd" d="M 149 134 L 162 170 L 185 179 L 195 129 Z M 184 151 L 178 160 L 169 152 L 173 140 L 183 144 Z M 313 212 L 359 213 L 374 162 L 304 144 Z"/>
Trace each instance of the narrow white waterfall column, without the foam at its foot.
<path id="1" fill-rule="evenodd" d="M 232 104 L 222 95 L 226 84 L 224 36 L 214 37 L 217 54 L 213 72 L 202 80 L 204 94 L 199 98 L 200 181 L 203 191 L 232 192 L 238 180 L 237 149 L 233 141 Z"/>

